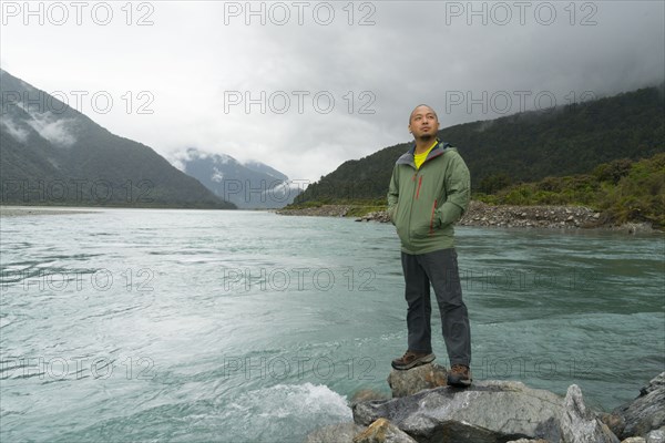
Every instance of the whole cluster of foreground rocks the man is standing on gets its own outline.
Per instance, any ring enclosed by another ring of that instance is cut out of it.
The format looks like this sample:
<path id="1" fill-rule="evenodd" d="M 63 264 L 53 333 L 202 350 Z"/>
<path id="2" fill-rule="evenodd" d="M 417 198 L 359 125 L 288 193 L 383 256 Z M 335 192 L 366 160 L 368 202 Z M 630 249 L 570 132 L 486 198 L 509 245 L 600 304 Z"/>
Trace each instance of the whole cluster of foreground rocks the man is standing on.
<path id="1" fill-rule="evenodd" d="M 319 429 L 306 442 L 665 443 L 665 372 L 611 413 L 590 409 L 576 384 L 560 396 L 516 381 L 453 388 L 446 375 L 436 363 L 392 370 L 392 399 L 361 391 L 352 423 Z"/>

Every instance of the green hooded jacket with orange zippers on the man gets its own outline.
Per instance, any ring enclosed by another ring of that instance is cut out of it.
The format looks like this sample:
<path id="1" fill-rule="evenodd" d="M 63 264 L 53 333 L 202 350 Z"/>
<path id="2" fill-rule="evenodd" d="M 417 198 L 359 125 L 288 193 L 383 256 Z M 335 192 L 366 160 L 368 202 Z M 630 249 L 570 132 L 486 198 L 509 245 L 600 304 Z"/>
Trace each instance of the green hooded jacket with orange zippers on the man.
<path id="1" fill-rule="evenodd" d="M 439 141 L 416 169 L 415 150 L 396 162 L 388 190 L 388 214 L 401 250 L 427 254 L 452 248 L 452 226 L 469 206 L 469 168 L 454 147 Z"/>

